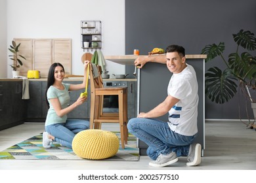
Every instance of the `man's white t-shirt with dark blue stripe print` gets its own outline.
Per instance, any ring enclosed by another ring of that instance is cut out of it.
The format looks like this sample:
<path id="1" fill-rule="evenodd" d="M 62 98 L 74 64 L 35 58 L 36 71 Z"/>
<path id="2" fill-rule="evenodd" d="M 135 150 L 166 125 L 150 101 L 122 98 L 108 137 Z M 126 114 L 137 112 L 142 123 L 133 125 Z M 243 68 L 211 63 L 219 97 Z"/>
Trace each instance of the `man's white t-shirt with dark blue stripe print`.
<path id="1" fill-rule="evenodd" d="M 169 127 L 181 135 L 192 136 L 198 132 L 198 81 L 191 65 L 181 73 L 173 74 L 167 88 L 168 95 L 180 101 L 169 110 Z"/>

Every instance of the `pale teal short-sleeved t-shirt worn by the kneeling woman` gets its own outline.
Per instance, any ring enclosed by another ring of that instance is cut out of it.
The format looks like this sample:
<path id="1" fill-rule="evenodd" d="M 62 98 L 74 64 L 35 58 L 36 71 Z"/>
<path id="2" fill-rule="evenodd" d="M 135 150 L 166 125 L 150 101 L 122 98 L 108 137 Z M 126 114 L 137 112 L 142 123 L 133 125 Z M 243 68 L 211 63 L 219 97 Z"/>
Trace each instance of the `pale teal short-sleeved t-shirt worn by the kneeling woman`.
<path id="1" fill-rule="evenodd" d="M 55 99 L 58 98 L 60 101 L 60 107 L 66 108 L 68 107 L 68 103 L 70 102 L 70 94 L 68 93 L 68 90 L 70 89 L 70 84 L 62 83 L 64 86 L 64 90 L 58 90 L 54 86 L 50 86 L 47 91 L 47 100 L 49 99 Z M 47 112 L 47 117 L 45 121 L 45 125 L 53 125 L 53 124 L 60 124 L 65 123 L 67 120 L 67 115 L 64 115 L 62 117 L 59 117 L 51 102 L 49 101 L 49 110 Z"/>

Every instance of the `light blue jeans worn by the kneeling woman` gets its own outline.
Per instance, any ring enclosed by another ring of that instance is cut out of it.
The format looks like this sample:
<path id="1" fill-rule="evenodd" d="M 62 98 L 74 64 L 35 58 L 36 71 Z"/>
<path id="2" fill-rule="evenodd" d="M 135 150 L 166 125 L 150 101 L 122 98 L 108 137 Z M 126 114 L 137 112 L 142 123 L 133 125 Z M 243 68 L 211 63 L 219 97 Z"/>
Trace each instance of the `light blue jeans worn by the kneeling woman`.
<path id="1" fill-rule="evenodd" d="M 85 120 L 74 120 L 68 119 L 66 123 L 63 124 L 53 124 L 45 126 L 45 130 L 55 137 L 55 141 L 72 148 L 72 141 L 75 134 L 79 131 L 89 129 L 90 123 Z"/>

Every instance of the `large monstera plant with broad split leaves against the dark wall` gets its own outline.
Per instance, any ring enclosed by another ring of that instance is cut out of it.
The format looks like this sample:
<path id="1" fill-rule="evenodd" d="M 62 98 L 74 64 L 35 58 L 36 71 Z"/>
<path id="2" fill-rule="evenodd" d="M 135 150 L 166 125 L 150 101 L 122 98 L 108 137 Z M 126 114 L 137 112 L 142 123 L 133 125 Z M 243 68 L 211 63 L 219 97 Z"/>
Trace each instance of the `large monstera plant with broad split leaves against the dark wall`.
<path id="1" fill-rule="evenodd" d="M 251 95 L 251 92 L 256 92 L 256 57 L 246 52 L 256 50 L 256 38 L 251 31 L 241 29 L 233 34 L 233 39 L 237 47 L 227 59 L 223 56 L 224 42 L 209 44 L 202 49 L 202 54 L 207 55 L 205 62 L 219 56 L 226 65 L 223 71 L 215 66 L 205 73 L 205 94 L 211 101 L 222 104 L 232 99 L 239 88 L 251 102 L 251 107 L 255 108 L 253 114 L 256 119 L 256 99 Z M 240 51 L 240 48 L 245 52 Z M 256 129 L 255 120 L 253 122 L 249 120 L 247 125 Z"/>

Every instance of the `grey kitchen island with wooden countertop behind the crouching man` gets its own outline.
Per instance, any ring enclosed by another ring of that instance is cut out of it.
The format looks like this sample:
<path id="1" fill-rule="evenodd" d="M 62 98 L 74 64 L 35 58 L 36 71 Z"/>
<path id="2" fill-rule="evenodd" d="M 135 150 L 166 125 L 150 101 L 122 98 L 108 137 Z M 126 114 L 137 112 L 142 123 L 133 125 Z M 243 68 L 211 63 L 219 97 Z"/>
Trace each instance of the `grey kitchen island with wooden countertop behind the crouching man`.
<path id="1" fill-rule="evenodd" d="M 135 55 L 105 56 L 105 59 L 122 65 L 134 65 L 137 58 L 138 56 Z M 186 55 L 186 63 L 194 67 L 198 79 L 198 136 L 196 142 L 202 145 L 202 156 L 205 149 L 205 58 L 206 55 Z M 166 65 L 161 63 L 146 63 L 142 69 L 137 70 L 137 114 L 148 112 L 165 99 L 171 75 L 172 73 Z M 168 115 L 158 119 L 167 121 Z M 138 146 L 140 155 L 146 155 L 147 144 L 139 140 Z"/>

